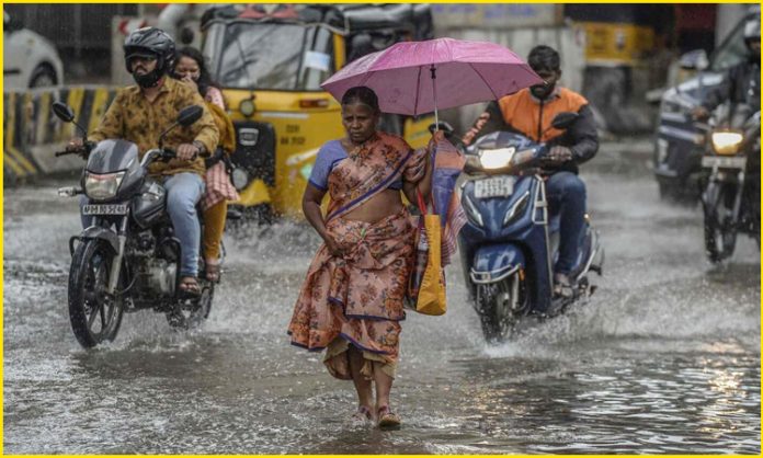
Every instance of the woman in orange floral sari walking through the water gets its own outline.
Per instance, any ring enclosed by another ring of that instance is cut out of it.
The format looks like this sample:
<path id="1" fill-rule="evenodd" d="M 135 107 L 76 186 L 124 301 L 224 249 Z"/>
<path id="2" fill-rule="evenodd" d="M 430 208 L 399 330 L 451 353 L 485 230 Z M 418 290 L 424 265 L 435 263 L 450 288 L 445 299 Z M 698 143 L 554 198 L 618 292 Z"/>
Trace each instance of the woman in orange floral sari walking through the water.
<path id="1" fill-rule="evenodd" d="M 360 404 L 354 420 L 395 427 L 400 417 L 389 392 L 415 236 L 400 191 L 410 202 L 417 202 L 417 191 L 426 198 L 432 167 L 424 150 L 377 131 L 379 115 L 373 90 L 348 90 L 342 98 L 346 137 L 318 152 L 303 210 L 324 243 L 307 272 L 288 333 L 295 345 L 326 348 L 329 373 L 354 382 Z M 327 192 L 331 202 L 323 217 Z"/>

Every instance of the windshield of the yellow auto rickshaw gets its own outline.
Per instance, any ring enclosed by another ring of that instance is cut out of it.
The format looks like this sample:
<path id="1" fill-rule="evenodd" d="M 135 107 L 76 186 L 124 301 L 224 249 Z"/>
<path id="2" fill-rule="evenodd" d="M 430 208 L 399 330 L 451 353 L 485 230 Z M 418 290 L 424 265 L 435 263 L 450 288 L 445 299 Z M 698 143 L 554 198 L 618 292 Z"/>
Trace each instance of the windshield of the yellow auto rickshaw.
<path id="1" fill-rule="evenodd" d="M 212 73 L 224 88 L 316 91 L 333 68 L 331 33 L 318 26 L 214 24 L 205 41 Z"/>

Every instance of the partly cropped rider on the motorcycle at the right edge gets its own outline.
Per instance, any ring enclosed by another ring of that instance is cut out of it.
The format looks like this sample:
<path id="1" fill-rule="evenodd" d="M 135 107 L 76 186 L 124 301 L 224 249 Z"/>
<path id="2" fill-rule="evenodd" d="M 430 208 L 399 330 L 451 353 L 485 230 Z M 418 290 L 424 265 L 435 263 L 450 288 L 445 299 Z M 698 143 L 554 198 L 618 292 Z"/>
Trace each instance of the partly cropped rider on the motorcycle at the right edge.
<path id="1" fill-rule="evenodd" d="M 761 20 L 750 19 L 744 24 L 747 59 L 729 68 L 720 85 L 709 91 L 702 105 L 692 111 L 696 119 L 707 118 L 713 110 L 730 100 L 748 104 L 753 112 L 761 108 Z"/>

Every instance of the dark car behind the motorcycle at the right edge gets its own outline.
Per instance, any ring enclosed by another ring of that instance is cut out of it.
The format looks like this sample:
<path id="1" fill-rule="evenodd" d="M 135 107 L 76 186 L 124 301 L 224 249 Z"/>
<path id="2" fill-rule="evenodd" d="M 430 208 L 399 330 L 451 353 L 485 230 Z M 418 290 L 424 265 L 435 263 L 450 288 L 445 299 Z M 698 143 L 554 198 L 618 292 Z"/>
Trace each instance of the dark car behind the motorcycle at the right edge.
<path id="1" fill-rule="evenodd" d="M 693 121 L 690 112 L 709 90 L 720 84 L 730 67 L 745 58 L 747 47 L 742 37 L 744 22 L 760 14 L 760 5 L 751 7 L 709 58 L 702 49 L 681 56 L 681 67 L 696 70 L 697 75 L 670 88 L 661 98 L 654 136 L 654 178 L 660 187 L 660 197 L 688 204 L 698 201 L 698 180 L 708 127 L 705 123 Z"/>

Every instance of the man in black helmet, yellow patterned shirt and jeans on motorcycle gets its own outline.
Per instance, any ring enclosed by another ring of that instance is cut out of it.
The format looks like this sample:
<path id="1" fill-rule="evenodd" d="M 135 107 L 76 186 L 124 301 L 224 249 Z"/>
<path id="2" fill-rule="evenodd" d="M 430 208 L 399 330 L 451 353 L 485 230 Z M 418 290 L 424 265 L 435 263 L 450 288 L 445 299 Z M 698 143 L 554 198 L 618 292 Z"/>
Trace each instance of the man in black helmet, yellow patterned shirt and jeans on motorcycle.
<path id="1" fill-rule="evenodd" d="M 180 110 L 198 105 L 204 108 L 200 121 L 190 127 L 171 130 L 164 140 L 176 152 L 171 161 L 155 162 L 151 175 L 160 176 L 167 194 L 167 209 L 180 240 L 180 289 L 201 293 L 196 275 L 201 228 L 196 203 L 204 192 L 203 157 L 213 151 L 219 139 L 215 122 L 205 108 L 202 96 L 193 88 L 168 78 L 172 69 L 175 45 L 164 32 L 155 27 L 139 28 L 125 39 L 125 65 L 137 85 L 119 90 L 90 140 L 123 138 L 138 146 L 140 157 L 157 146 L 160 134 L 178 118 Z M 75 138 L 67 149 L 79 149 L 82 139 Z M 83 202 L 84 204 L 84 202 Z"/>

